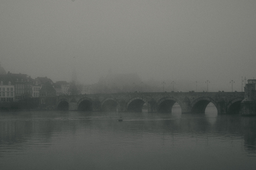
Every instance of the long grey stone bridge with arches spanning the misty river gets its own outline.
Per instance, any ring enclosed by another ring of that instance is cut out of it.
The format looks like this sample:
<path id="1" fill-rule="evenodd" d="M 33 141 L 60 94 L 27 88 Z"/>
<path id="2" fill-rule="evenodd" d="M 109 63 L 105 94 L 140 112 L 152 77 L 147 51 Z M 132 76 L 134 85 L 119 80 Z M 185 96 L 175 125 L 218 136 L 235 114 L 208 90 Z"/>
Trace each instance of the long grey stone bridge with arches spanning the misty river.
<path id="1" fill-rule="evenodd" d="M 57 110 L 171 112 L 175 103 L 182 113 L 204 113 L 212 102 L 218 114 L 238 114 L 244 92 L 135 92 L 40 97 L 41 106 Z"/>

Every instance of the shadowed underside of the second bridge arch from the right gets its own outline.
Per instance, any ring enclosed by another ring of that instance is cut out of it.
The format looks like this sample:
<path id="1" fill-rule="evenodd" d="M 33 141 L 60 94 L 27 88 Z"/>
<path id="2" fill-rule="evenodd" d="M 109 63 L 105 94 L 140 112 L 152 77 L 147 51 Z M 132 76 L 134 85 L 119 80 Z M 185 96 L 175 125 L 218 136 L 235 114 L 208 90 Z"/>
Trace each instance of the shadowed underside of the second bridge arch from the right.
<path id="1" fill-rule="evenodd" d="M 212 102 L 214 104 L 214 106 L 218 110 L 218 114 L 219 114 L 218 104 L 216 103 L 216 101 L 211 99 L 210 97 L 205 97 L 205 96 L 198 97 L 191 102 L 191 108 L 192 108 L 191 111 L 194 113 L 203 113 L 204 114 L 205 109 L 210 102 Z"/>

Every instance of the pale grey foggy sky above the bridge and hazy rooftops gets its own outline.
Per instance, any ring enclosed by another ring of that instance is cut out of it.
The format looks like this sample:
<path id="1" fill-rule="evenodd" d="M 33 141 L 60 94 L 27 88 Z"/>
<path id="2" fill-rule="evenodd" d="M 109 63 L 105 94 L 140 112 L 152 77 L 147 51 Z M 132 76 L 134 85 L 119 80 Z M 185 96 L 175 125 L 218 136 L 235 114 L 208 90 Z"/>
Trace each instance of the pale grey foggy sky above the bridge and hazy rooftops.
<path id="1" fill-rule="evenodd" d="M 255 0 L 1 0 L 6 71 L 96 83 L 109 69 L 142 80 L 241 91 L 256 78 Z M 176 85 L 179 86 L 179 85 Z"/>

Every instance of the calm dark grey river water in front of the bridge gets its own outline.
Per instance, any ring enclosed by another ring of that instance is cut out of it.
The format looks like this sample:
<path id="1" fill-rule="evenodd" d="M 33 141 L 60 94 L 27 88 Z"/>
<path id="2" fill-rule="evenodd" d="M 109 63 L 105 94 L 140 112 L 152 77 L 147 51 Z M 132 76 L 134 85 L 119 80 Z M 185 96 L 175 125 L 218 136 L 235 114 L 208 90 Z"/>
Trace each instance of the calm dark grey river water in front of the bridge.
<path id="1" fill-rule="evenodd" d="M 216 112 L 0 112 L 0 169 L 256 169 L 256 117 Z"/>

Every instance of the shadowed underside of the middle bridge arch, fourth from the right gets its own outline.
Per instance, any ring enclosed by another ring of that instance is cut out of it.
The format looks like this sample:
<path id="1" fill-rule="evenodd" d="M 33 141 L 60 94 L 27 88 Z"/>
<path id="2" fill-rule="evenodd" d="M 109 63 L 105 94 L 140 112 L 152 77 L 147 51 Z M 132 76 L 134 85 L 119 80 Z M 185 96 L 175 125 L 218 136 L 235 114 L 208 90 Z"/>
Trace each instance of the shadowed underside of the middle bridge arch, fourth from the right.
<path id="1" fill-rule="evenodd" d="M 127 111 L 135 111 L 135 112 L 142 112 L 142 106 L 147 103 L 147 101 L 142 97 L 132 97 L 127 102 Z"/>

